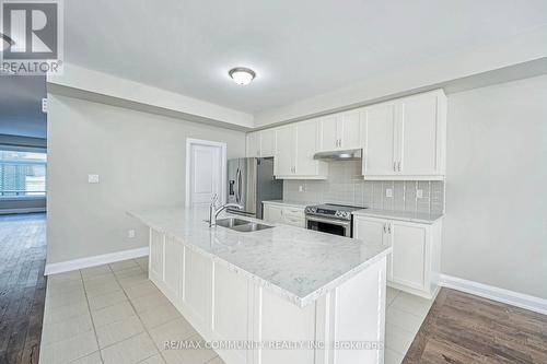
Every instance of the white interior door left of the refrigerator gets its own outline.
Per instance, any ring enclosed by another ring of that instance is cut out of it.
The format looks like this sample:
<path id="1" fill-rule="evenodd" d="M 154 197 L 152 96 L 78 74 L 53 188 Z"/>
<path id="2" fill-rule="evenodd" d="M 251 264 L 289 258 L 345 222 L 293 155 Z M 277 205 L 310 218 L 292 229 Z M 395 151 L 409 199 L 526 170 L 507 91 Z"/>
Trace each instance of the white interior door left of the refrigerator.
<path id="1" fill-rule="evenodd" d="M 214 195 L 222 199 L 222 148 L 193 143 L 190 145 L 189 206 L 208 206 Z"/>

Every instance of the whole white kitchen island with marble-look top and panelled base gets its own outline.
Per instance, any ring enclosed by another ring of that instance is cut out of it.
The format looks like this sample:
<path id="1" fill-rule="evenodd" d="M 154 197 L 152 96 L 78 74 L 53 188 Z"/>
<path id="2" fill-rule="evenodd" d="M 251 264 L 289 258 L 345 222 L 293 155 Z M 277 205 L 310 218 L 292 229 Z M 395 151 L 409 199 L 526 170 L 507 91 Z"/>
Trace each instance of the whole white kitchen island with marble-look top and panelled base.
<path id="1" fill-rule="evenodd" d="M 383 363 L 391 248 L 209 227 L 208 209 L 130 214 L 150 227 L 150 280 L 228 364 Z"/>

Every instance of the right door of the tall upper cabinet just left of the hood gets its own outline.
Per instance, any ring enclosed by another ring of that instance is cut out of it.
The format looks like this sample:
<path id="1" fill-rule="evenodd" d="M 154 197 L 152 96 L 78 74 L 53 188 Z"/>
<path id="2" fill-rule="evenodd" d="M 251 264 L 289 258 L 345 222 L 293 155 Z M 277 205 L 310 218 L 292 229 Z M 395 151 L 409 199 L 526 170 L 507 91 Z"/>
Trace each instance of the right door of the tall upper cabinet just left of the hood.
<path id="1" fill-rule="evenodd" d="M 296 150 L 296 174 L 300 176 L 312 176 L 317 174 L 318 161 L 313 158 L 317 152 L 317 121 L 304 121 L 295 124 L 295 150 Z"/>

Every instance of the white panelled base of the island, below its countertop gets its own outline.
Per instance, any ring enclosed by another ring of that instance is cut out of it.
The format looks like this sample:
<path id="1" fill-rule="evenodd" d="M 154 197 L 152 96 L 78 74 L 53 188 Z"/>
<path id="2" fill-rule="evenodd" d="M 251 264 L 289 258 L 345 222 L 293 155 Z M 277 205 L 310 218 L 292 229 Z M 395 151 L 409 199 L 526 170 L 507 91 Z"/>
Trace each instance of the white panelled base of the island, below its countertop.
<path id="1" fill-rule="evenodd" d="M 300 307 L 151 230 L 149 277 L 226 364 L 383 363 L 385 257 Z"/>

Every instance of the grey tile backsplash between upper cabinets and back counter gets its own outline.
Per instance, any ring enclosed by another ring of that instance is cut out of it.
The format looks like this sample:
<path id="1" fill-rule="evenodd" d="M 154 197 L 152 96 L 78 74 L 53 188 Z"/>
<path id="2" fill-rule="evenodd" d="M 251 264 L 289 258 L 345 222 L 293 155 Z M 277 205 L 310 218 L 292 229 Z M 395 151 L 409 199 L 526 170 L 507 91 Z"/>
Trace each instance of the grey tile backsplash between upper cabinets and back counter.
<path id="1" fill-rule="evenodd" d="M 387 189 L 392 190 L 392 197 L 386 197 Z M 421 190 L 421 197 L 418 197 L 418 190 Z M 330 202 L 393 211 L 442 213 L 444 181 L 363 180 L 360 161 L 329 162 L 326 180 L 286 179 L 283 198 L 312 203 Z"/>

